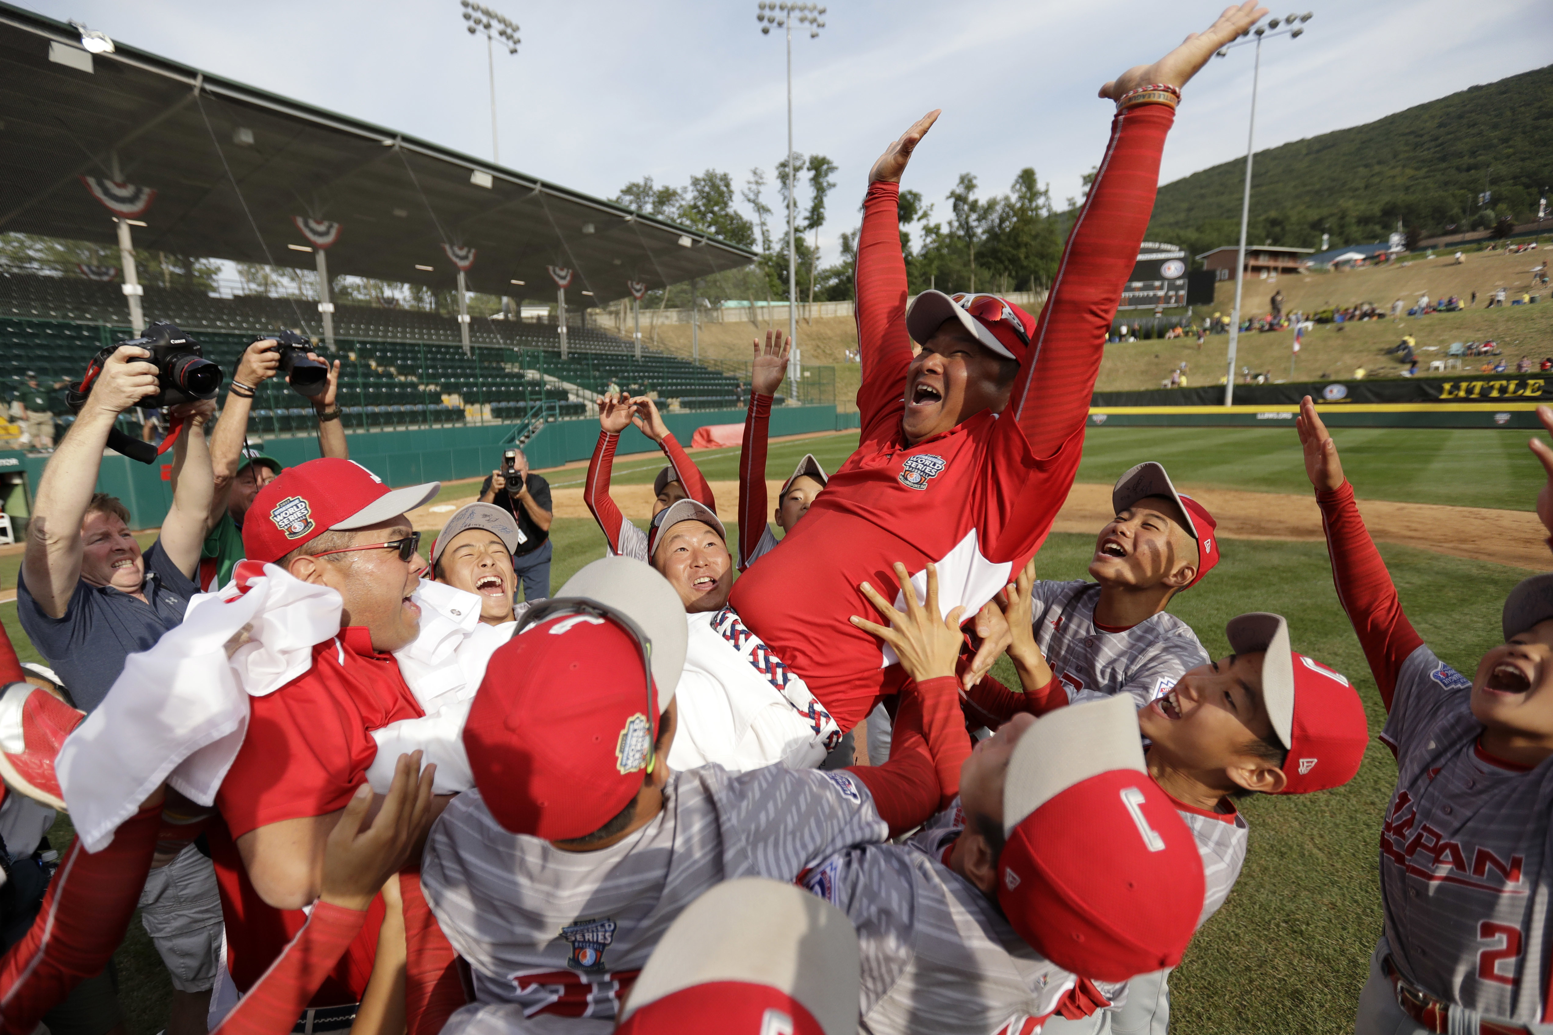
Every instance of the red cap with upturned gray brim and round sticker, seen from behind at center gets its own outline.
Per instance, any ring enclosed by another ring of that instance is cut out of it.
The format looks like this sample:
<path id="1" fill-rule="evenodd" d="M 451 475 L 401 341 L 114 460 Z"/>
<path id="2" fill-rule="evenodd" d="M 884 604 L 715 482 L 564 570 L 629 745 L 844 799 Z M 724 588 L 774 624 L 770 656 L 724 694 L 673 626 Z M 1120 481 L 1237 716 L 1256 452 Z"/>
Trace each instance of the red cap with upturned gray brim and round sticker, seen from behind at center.
<path id="1" fill-rule="evenodd" d="M 685 605 L 648 565 L 606 557 L 522 622 L 486 664 L 464 751 L 497 822 L 568 841 L 613 819 L 663 765 L 652 745 L 685 669 Z"/>

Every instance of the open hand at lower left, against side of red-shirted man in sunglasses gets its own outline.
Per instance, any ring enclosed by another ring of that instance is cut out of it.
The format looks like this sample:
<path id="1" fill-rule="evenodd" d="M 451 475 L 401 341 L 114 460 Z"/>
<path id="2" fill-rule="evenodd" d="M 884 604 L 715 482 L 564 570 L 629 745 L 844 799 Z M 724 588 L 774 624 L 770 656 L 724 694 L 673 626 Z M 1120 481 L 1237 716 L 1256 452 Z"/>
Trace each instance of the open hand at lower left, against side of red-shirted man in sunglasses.
<path id="1" fill-rule="evenodd" d="M 419 779 L 416 779 L 419 776 Z M 401 754 L 393 785 L 373 826 L 362 830 L 373 788 L 362 784 L 323 847 L 323 902 L 365 909 L 410 858 L 410 849 L 432 826 L 432 781 L 436 767 L 421 768 L 421 753 Z"/>

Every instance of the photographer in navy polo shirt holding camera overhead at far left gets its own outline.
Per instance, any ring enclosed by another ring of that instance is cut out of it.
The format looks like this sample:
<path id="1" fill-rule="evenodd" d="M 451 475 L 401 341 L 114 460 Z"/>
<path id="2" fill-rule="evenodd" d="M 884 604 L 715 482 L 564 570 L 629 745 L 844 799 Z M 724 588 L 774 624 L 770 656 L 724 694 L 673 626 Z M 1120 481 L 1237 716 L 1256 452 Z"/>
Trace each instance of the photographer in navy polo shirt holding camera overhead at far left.
<path id="1" fill-rule="evenodd" d="M 129 531 L 129 509 L 95 492 L 118 414 L 162 391 L 148 357 L 120 346 L 102 363 L 37 486 L 17 577 L 22 628 L 85 711 L 107 695 L 124 658 L 183 621 L 197 593 L 191 579 L 213 495 L 205 424 L 214 402 L 169 411 L 185 425 L 172 450 L 172 509 L 149 549 L 141 552 Z M 172 976 L 168 1035 L 194 1035 L 205 1030 L 221 945 L 214 871 L 193 846 L 157 863 L 140 900 L 141 922 Z"/>

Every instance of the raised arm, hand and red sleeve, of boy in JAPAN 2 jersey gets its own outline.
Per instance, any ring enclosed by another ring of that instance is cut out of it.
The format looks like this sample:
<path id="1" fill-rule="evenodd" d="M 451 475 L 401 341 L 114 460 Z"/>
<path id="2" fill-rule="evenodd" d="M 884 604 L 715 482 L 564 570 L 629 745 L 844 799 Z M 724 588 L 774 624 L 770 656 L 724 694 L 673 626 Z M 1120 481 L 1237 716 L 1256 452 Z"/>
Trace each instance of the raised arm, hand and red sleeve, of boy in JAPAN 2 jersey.
<path id="1" fill-rule="evenodd" d="M 1407 655 L 1418 650 L 1424 639 L 1402 613 L 1391 574 L 1359 517 L 1354 487 L 1343 478 L 1337 444 L 1326 433 L 1309 396 L 1300 402 L 1295 427 L 1305 448 L 1305 473 L 1315 486 L 1315 503 L 1322 507 L 1322 529 L 1326 532 L 1337 601 L 1353 622 L 1370 672 L 1381 689 L 1381 700 L 1390 711 L 1396 675 Z"/>

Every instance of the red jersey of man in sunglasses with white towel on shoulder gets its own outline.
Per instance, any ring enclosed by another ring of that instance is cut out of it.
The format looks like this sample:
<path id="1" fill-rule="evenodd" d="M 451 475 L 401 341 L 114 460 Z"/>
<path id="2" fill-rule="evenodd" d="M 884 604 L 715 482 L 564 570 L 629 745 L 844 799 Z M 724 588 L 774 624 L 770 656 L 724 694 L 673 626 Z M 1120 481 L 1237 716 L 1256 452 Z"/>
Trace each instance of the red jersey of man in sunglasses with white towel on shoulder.
<path id="1" fill-rule="evenodd" d="M 236 839 L 272 822 L 345 808 L 377 756 L 371 731 L 424 714 L 399 673 L 399 663 L 393 655 L 374 652 L 371 635 L 359 625 L 317 644 L 307 672 L 248 703 L 252 714 L 242 749 L 216 794 L 225 824 L 210 830 L 227 920 L 227 965 L 242 992 L 301 931 L 307 914 L 275 909 L 259 898 L 238 855 Z M 312 1006 L 360 1001 L 371 976 L 382 914 L 379 897 Z"/>

